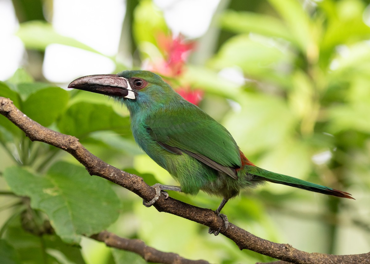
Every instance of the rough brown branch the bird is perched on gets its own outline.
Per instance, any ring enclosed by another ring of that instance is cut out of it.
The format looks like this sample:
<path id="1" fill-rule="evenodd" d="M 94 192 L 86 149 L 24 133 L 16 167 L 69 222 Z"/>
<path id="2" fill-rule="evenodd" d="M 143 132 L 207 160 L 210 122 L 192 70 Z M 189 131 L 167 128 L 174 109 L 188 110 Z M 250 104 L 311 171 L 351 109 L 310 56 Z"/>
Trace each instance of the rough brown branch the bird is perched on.
<path id="1" fill-rule="evenodd" d="M 90 175 L 96 175 L 110 180 L 131 192 L 134 192 L 142 199 L 151 200 L 155 195 L 155 190 L 148 186 L 144 180 L 116 167 L 113 167 L 96 156 L 92 155 L 87 149 L 78 142 L 74 136 L 64 135 L 51 129 L 41 126 L 17 109 L 10 99 L 0 97 L 0 114 L 4 115 L 16 126 L 18 126 L 31 141 L 40 141 L 63 149 L 74 156 L 84 165 Z M 210 209 L 204 209 L 181 201 L 164 199 L 162 195 L 154 204 L 158 211 L 174 214 L 176 216 L 195 221 L 205 226 L 217 230 L 221 227 L 220 233 L 230 238 L 242 249 L 248 249 L 257 253 L 267 255 L 288 263 L 296 264 L 326 264 L 326 263 L 346 263 L 346 264 L 368 264 L 370 263 L 370 253 L 358 255 L 329 255 L 321 253 L 307 253 L 297 250 L 289 244 L 278 244 L 272 241 L 257 237 L 246 230 L 229 223 L 227 230 L 223 227 L 221 217 L 215 215 Z"/>

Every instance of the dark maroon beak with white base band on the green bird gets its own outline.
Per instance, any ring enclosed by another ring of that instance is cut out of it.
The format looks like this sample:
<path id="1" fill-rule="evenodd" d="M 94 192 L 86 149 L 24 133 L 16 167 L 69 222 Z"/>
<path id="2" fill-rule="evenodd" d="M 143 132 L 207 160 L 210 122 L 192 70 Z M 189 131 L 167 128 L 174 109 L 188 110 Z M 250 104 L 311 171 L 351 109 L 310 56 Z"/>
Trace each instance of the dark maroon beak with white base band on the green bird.
<path id="1" fill-rule="evenodd" d="M 97 74 L 80 77 L 71 82 L 68 88 L 129 99 L 136 98 L 128 80 L 117 74 Z"/>

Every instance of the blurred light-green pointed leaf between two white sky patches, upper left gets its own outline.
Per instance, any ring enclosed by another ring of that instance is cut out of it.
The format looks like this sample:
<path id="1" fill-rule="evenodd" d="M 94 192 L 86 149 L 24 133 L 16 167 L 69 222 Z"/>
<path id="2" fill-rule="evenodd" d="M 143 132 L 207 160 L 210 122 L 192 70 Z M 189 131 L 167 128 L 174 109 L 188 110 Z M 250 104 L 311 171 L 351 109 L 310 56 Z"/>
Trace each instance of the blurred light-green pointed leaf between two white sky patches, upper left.
<path id="1" fill-rule="evenodd" d="M 28 49 L 43 51 L 47 45 L 62 44 L 101 54 L 97 50 L 94 50 L 74 38 L 58 34 L 54 31 L 51 24 L 45 21 L 33 20 L 20 24 L 17 36 L 20 37 Z"/>

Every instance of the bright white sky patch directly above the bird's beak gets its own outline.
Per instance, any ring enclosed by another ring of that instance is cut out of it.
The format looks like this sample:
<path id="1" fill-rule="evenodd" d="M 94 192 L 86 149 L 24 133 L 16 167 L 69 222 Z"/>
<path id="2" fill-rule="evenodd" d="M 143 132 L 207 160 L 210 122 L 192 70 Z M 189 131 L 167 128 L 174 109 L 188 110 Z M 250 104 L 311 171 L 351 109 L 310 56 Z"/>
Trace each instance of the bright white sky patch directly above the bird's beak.
<path id="1" fill-rule="evenodd" d="M 115 70 L 112 60 L 79 48 L 60 44 L 45 50 L 43 74 L 51 82 L 64 83 L 92 74 L 109 74 Z"/>

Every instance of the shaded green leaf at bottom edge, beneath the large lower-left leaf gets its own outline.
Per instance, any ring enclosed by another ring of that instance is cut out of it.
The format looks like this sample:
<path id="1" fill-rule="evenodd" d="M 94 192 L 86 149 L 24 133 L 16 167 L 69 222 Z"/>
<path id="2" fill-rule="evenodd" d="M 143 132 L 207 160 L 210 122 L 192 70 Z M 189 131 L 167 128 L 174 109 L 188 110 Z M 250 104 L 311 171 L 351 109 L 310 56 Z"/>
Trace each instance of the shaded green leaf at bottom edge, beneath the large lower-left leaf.
<path id="1" fill-rule="evenodd" d="M 19 253 L 21 263 L 40 264 L 44 263 L 44 257 L 47 257 L 47 263 L 85 264 L 79 247 L 64 243 L 55 234 L 39 237 L 28 233 L 22 228 L 20 217 L 9 223 L 4 238 Z"/>

